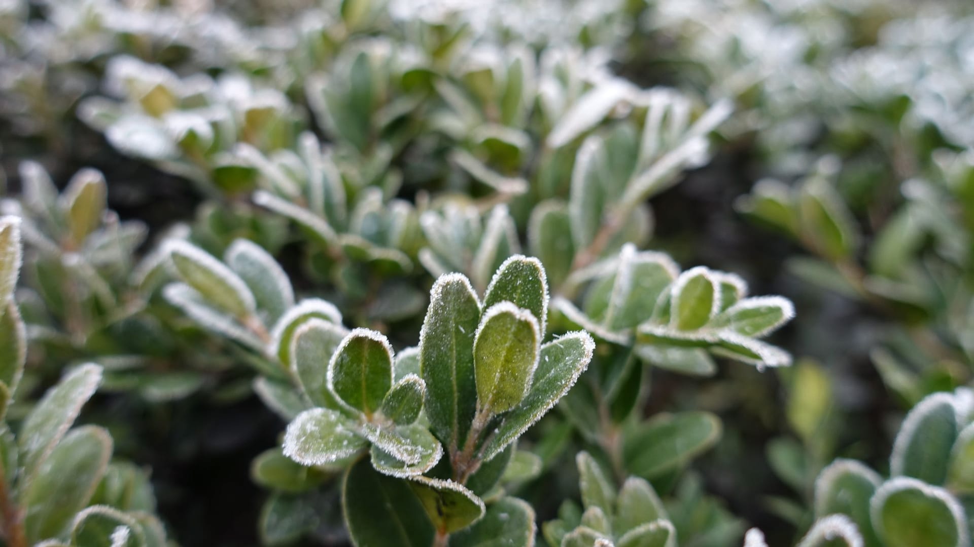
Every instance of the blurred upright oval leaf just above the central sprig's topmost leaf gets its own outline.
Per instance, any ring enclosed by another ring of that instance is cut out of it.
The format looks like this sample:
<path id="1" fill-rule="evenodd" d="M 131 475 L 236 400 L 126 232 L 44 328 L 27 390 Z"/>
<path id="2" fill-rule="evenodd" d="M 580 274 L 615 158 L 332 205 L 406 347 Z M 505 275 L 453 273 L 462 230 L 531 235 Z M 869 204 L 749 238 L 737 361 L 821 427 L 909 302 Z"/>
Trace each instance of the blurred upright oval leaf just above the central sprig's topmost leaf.
<path id="1" fill-rule="evenodd" d="M 575 260 L 572 219 L 564 203 L 549 200 L 535 205 L 528 222 L 528 249 L 541 259 L 551 285 L 561 286 Z"/>

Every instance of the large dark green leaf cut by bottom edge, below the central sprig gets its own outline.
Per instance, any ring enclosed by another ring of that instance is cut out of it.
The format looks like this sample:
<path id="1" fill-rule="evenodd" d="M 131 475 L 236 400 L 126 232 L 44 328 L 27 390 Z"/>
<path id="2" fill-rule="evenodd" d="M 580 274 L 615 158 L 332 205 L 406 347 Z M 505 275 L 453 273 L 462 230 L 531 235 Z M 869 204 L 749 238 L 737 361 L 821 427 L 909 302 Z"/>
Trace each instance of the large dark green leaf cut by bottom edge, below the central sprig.
<path id="1" fill-rule="evenodd" d="M 430 547 L 433 527 L 411 483 L 377 472 L 366 460 L 349 469 L 342 485 L 349 535 L 368 547 Z M 384 523 L 378 527 L 376 523 Z"/>

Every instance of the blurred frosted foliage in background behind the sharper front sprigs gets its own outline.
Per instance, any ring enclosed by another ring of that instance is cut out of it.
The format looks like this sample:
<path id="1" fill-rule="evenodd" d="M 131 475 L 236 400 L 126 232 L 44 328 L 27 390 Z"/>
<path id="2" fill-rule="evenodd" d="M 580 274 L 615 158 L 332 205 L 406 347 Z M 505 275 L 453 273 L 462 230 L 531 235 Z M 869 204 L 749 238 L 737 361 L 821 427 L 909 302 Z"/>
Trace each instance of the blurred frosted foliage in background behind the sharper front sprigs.
<path id="1" fill-rule="evenodd" d="M 296 292 L 396 348 L 416 345 L 437 275 L 483 292 L 517 252 L 555 296 L 626 241 L 786 296 L 791 368 L 647 378 L 642 415 L 723 421 L 655 481 L 684 545 L 749 526 L 794 541 L 834 458 L 889 475 L 906 412 L 971 383 L 969 2 L 4 0 L 0 52 L 3 212 L 27 247 L 19 392 L 102 365 L 82 419 L 152 469 L 183 544 L 260 542 L 242 523 L 267 494 L 247 477 L 283 425 L 253 395 L 266 363 L 163 297 L 165 238 L 217 257 L 256 241 Z M 570 421 L 538 426 L 545 472 L 511 489 L 539 523 L 577 496 Z M 344 540 L 331 515 L 318 543 Z"/>

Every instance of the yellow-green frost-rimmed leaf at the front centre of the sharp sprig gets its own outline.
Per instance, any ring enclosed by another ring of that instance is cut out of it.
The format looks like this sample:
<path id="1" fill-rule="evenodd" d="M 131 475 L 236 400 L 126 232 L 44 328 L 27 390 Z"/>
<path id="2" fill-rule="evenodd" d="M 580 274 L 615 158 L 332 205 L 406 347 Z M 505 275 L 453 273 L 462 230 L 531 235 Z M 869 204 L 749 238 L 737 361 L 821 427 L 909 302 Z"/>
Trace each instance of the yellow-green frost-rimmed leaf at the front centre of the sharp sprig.
<path id="1" fill-rule="evenodd" d="M 531 388 L 540 346 L 531 311 L 509 302 L 485 311 L 473 342 L 478 407 L 497 415 L 520 403 Z"/>

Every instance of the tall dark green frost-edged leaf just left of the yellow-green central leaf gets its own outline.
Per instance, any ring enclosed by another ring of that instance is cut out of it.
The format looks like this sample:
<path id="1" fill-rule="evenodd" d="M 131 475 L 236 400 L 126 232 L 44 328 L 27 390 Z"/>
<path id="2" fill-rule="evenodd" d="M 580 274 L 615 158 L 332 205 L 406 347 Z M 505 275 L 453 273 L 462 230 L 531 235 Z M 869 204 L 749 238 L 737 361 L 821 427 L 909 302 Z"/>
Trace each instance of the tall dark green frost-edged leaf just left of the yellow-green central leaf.
<path id="1" fill-rule="evenodd" d="M 420 331 L 420 370 L 432 432 L 451 453 L 463 446 L 476 411 L 473 337 L 479 322 L 480 302 L 467 277 L 436 279 Z"/>

